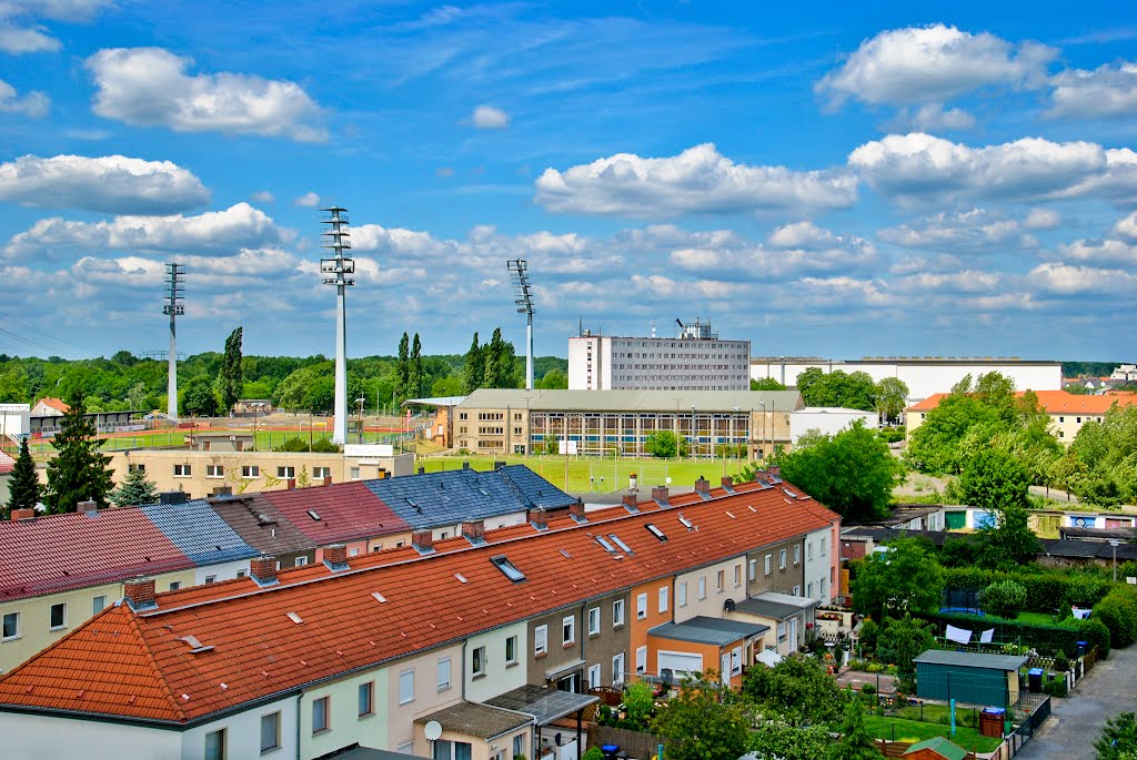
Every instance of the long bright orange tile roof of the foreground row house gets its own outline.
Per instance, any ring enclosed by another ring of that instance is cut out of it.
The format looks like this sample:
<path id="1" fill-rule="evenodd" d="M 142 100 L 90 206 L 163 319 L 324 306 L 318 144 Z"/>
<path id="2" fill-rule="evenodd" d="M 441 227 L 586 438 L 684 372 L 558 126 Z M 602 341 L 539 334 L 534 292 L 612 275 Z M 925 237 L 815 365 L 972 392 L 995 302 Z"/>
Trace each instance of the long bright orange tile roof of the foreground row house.
<path id="1" fill-rule="evenodd" d="M 780 487 L 738 490 L 716 490 L 709 501 L 681 496 L 679 508 L 647 502 L 639 515 L 606 510 L 611 515 L 589 515 L 584 525 L 550 519 L 543 532 L 524 525 L 492 531 L 485 546 L 457 537 L 438 542 L 426 557 L 409 548 L 377 552 L 351 558 L 350 569 L 335 574 L 323 565 L 298 568 L 266 588 L 241 578 L 160 594 L 152 612 L 121 604 L 0 679 L 0 709 L 185 723 L 839 519 L 812 500 L 788 499 Z M 680 512 L 698 529 L 682 525 Z M 647 523 L 669 540 L 653 536 Z M 594 538 L 601 532 L 617 534 L 634 554 L 609 554 Z M 526 579 L 506 578 L 489 561 L 497 554 Z M 213 649 L 193 653 L 186 636 Z"/>

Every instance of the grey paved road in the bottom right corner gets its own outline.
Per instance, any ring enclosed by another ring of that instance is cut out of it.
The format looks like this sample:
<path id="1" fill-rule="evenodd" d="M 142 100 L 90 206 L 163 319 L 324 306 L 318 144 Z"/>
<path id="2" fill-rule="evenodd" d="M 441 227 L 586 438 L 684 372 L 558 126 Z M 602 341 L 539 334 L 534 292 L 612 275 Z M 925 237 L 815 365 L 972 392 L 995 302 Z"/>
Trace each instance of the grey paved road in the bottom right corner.
<path id="1" fill-rule="evenodd" d="M 1073 694 L 1052 701 L 1053 712 L 1015 755 L 1023 760 L 1094 760 L 1094 740 L 1110 716 L 1131 711 L 1137 695 L 1137 645 L 1114 650 Z"/>

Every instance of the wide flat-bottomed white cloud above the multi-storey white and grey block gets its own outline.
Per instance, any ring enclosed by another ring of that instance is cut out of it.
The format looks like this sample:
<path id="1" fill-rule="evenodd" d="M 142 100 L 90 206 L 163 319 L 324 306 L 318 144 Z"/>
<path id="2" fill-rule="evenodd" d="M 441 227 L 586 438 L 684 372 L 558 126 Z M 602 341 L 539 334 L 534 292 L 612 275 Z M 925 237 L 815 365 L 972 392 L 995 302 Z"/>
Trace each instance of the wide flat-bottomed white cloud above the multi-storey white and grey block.
<path id="1" fill-rule="evenodd" d="M 674 217 L 766 209 L 845 208 L 856 179 L 840 172 L 794 172 L 736 164 L 711 143 L 679 156 L 617 153 L 537 179 L 537 202 L 563 214 Z"/>

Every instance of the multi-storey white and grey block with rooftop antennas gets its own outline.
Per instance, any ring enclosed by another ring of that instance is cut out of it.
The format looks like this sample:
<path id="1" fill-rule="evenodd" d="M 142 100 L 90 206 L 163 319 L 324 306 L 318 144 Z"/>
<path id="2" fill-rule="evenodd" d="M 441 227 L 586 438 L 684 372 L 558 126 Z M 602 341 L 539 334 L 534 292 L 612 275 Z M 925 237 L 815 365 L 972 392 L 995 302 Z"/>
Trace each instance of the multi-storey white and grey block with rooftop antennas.
<path id="1" fill-rule="evenodd" d="M 749 341 L 721 341 L 699 319 L 675 337 L 568 339 L 571 391 L 748 391 L 749 365 Z"/>

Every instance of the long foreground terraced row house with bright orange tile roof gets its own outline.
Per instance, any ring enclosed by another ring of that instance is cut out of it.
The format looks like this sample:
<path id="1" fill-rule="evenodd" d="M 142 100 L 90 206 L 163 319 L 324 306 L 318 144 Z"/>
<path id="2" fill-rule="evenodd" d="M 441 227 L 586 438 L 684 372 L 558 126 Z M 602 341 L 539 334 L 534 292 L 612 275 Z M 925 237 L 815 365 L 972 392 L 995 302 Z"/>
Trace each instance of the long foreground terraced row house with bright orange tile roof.
<path id="1" fill-rule="evenodd" d="M 470 520 L 447 540 L 421 531 L 410 545 L 359 557 L 332 546 L 284 571 L 263 557 L 250 577 L 157 595 L 139 579 L 0 679 L 6 752 L 117 758 L 130 748 L 181 760 L 280 749 L 308 759 L 359 744 L 425 753 L 425 726 L 437 720 L 447 757 L 537 757 L 542 726 L 579 719 L 596 701 L 565 692 L 649 675 L 633 659 L 648 640 L 735 669 L 735 642 L 754 645 L 758 628 L 720 635 L 713 652 L 675 635 L 674 579 L 839 528 L 839 516 L 788 498 L 788 485 L 763 473 L 587 515 L 581 504 L 562 517 L 537 508 L 522 525 Z M 740 587 L 737 600 L 746 598 Z M 556 624 L 537 638 L 531 624 L 542 618 Z"/>

